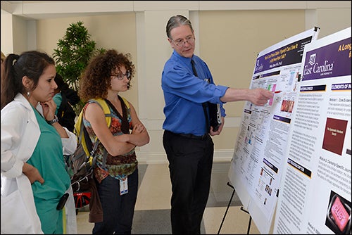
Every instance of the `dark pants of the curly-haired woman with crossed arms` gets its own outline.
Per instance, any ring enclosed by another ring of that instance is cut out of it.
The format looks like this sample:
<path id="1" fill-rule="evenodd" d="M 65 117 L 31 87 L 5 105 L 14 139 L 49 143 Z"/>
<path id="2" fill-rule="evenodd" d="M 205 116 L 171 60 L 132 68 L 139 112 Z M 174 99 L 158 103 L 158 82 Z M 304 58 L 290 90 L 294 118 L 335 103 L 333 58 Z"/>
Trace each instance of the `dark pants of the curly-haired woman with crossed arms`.
<path id="1" fill-rule="evenodd" d="M 138 168 L 128 176 L 128 193 L 120 195 L 120 181 L 111 176 L 96 184 L 103 208 L 103 222 L 95 223 L 93 234 L 131 234 L 137 201 Z"/>

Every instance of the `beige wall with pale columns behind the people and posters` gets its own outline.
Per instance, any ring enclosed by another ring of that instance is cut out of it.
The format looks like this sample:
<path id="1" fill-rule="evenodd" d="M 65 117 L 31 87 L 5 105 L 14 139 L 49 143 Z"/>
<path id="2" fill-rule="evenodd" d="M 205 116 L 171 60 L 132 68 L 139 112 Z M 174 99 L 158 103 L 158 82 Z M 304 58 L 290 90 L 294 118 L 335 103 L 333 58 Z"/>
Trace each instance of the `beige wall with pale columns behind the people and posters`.
<path id="1" fill-rule="evenodd" d="M 89 15 L 82 12 L 71 15 L 52 13 L 51 17 L 46 15 L 26 21 L 22 16 L 16 16 L 20 13 L 15 13 L 13 23 L 7 20 L 11 26 L 4 26 L 4 30 L 12 28 L 13 48 L 8 44 L 10 46 L 4 52 L 20 53 L 27 45 L 28 49 L 52 54 L 70 23 L 81 20 L 97 47 L 131 53 L 132 61 L 137 65 L 137 77 L 132 82 L 132 89 L 123 95 L 133 103 L 149 130 L 150 144 L 139 148 L 137 153 L 139 160 L 146 163 L 167 161 L 162 146 L 164 101 L 161 71 L 172 53 L 165 35 L 165 24 L 171 15 L 182 14 L 190 18 L 196 33 L 196 54 L 206 61 L 215 82 L 239 88 L 249 87 L 256 55 L 268 46 L 314 26 L 320 27 L 318 38 L 351 27 L 351 1 L 317 1 L 318 4 L 315 1 L 112 2 L 111 6 L 104 5 L 106 1 L 96 6 L 96 11 L 99 8 L 101 12 L 94 15 L 91 15 L 94 10 L 89 10 L 86 5 L 84 11 Z M 39 6 L 42 5 L 37 8 Z M 106 10 L 103 10 L 105 6 Z M 68 9 L 82 11 L 82 8 L 72 8 L 74 6 Z M 34 15 L 34 8 L 28 5 L 27 9 L 27 15 Z M 55 11 L 55 7 L 50 11 Z M 38 13 L 42 15 L 44 10 L 38 10 Z M 3 46 L 1 13 L 1 50 Z M 225 104 L 225 129 L 220 136 L 213 137 L 215 160 L 232 158 L 243 105 L 244 102 Z"/>

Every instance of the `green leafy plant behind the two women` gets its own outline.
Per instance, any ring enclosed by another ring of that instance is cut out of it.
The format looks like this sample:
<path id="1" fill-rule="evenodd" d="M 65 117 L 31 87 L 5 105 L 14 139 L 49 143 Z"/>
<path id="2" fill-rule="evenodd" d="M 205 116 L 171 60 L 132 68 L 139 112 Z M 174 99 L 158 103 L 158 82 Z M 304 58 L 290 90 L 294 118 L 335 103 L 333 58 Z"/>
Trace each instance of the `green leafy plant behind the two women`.
<path id="1" fill-rule="evenodd" d="M 56 71 L 70 88 L 79 89 L 80 75 L 87 67 L 90 59 L 105 49 L 96 49 L 96 42 L 90 39 L 90 34 L 82 21 L 70 24 L 63 39 L 59 39 L 53 57 L 56 61 Z M 74 108 L 76 113 L 82 109 L 83 103 Z"/>

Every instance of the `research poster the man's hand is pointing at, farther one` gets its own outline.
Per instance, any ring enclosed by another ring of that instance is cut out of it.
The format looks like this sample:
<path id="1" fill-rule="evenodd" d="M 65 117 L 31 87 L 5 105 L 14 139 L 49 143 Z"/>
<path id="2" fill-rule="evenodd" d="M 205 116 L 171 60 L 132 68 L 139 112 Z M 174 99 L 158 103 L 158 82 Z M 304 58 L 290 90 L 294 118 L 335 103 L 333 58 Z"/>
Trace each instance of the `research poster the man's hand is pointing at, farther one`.
<path id="1" fill-rule="evenodd" d="M 275 95 L 265 106 L 246 102 L 229 179 L 261 234 L 268 234 L 279 196 L 284 153 L 300 80 L 303 49 L 318 37 L 313 28 L 258 53 L 251 89 Z"/>

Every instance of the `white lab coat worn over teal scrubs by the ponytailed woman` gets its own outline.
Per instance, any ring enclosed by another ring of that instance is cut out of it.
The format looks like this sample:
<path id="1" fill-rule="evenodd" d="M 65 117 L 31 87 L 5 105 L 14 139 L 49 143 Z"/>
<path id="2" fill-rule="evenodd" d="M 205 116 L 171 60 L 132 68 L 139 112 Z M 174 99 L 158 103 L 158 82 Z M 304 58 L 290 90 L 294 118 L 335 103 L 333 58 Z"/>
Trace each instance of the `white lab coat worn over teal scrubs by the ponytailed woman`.
<path id="1" fill-rule="evenodd" d="M 61 139 L 64 154 L 77 146 L 75 134 Z M 23 174 L 23 164 L 31 157 L 40 129 L 34 110 L 22 94 L 15 96 L 1 110 L 1 234 L 43 234 L 34 205 L 30 180 Z M 72 189 L 65 205 L 67 234 L 77 234 Z M 72 211 L 73 210 L 73 211 Z"/>

